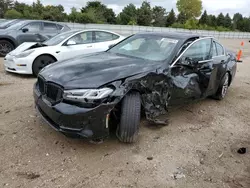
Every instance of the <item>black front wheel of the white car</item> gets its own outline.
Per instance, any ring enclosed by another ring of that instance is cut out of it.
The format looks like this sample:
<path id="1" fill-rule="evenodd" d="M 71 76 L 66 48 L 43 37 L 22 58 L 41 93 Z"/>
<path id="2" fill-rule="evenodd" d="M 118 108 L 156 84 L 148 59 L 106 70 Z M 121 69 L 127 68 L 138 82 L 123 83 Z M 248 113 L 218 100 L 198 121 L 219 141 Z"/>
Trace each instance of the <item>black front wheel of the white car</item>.
<path id="1" fill-rule="evenodd" d="M 32 65 L 33 75 L 37 77 L 38 73 L 47 65 L 54 63 L 56 60 L 49 55 L 41 55 L 35 59 Z"/>

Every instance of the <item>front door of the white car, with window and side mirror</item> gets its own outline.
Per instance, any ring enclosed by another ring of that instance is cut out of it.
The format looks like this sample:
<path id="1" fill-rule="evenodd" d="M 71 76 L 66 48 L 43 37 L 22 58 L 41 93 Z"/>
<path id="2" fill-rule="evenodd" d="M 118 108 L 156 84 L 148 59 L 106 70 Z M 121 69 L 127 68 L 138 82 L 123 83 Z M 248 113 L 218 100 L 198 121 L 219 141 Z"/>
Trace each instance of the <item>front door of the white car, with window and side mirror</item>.
<path id="1" fill-rule="evenodd" d="M 58 51 L 58 59 L 69 59 L 78 55 L 95 52 L 93 48 L 93 32 L 81 32 L 67 40 Z"/>

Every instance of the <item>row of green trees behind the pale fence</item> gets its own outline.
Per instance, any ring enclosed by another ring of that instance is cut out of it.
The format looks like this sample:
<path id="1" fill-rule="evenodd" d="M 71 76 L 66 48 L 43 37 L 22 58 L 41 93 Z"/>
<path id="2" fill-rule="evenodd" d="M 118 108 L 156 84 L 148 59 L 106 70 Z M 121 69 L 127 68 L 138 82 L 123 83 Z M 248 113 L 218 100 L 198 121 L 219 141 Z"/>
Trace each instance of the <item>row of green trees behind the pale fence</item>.
<path id="1" fill-rule="evenodd" d="M 62 5 L 45 6 L 40 0 L 31 5 L 0 0 L 0 18 L 250 32 L 250 18 L 240 13 L 234 14 L 233 18 L 223 13 L 218 16 L 209 15 L 206 10 L 202 12 L 201 0 L 177 0 L 176 7 L 179 14 L 174 9 L 152 7 L 150 2 L 144 1 L 139 8 L 132 3 L 128 4 L 116 15 L 105 4 L 94 0 L 87 2 L 80 10 L 72 7 L 71 12 L 66 14 Z"/>

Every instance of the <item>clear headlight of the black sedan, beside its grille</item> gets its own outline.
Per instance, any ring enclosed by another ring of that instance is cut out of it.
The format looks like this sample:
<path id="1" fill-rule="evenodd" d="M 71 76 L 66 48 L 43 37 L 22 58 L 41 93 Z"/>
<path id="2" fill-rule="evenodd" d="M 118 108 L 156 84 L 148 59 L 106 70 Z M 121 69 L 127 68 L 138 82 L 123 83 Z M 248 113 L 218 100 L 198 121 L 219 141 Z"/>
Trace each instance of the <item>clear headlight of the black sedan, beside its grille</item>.
<path id="1" fill-rule="evenodd" d="M 102 89 L 76 89 L 64 91 L 63 98 L 69 100 L 98 100 L 108 97 L 113 93 L 111 88 Z"/>

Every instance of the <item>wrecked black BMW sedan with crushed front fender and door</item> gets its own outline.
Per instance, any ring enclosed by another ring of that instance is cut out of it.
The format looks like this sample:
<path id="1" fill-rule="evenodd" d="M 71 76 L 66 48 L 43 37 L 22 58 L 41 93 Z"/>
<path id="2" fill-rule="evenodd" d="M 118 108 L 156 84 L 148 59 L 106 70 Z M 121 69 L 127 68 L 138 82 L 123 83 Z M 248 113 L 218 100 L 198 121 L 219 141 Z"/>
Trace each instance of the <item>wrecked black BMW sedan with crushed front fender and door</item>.
<path id="1" fill-rule="evenodd" d="M 212 37 L 139 33 L 106 52 L 44 68 L 34 85 L 35 105 L 57 131 L 120 141 L 138 138 L 141 115 L 154 123 L 172 105 L 206 97 L 222 100 L 236 58 Z"/>

